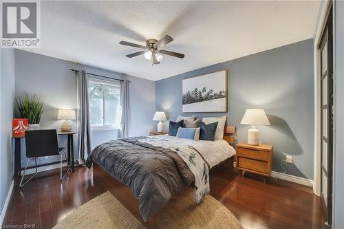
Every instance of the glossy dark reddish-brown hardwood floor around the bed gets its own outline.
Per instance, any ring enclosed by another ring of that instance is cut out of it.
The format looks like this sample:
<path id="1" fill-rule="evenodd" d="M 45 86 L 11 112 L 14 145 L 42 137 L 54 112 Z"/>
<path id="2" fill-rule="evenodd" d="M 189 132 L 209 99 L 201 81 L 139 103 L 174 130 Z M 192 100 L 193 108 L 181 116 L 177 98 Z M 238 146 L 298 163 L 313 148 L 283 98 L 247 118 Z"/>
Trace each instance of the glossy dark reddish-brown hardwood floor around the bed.
<path id="1" fill-rule="evenodd" d="M 264 184 L 262 180 L 254 175 L 240 177 L 236 169 L 228 173 L 219 166 L 211 171 L 211 195 L 244 228 L 327 228 L 321 199 L 312 188 L 272 178 Z M 120 185 L 98 166 L 91 170 L 80 166 L 63 182 L 58 169 L 39 173 L 23 188 L 14 188 L 3 226 L 52 228 L 82 204 Z"/>

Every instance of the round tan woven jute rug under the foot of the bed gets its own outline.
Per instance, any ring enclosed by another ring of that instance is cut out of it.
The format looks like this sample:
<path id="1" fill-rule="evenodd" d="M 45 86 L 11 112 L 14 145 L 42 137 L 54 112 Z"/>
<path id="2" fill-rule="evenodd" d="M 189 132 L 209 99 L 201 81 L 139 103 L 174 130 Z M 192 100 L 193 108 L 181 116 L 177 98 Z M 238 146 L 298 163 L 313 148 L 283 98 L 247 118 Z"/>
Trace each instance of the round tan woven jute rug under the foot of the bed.
<path id="1" fill-rule="evenodd" d="M 65 228 L 144 228 L 109 191 L 80 206 L 60 221 Z M 219 201 L 207 195 L 201 204 L 193 203 L 193 192 L 172 198 L 154 217 L 154 228 L 242 228 L 237 218 Z"/>

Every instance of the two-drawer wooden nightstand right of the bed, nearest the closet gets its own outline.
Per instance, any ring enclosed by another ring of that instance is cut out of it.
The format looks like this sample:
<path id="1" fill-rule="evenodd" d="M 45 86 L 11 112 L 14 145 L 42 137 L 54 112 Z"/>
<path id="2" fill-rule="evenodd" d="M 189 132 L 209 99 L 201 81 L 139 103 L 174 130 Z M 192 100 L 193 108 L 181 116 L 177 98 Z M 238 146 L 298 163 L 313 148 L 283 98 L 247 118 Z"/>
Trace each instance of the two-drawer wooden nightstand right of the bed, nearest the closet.
<path id="1" fill-rule="evenodd" d="M 251 146 L 247 143 L 237 144 L 237 168 L 242 171 L 250 173 L 257 173 L 264 175 L 264 183 L 266 177 L 270 177 L 272 168 L 272 150 L 274 146 L 270 144 L 259 144 L 258 146 Z"/>

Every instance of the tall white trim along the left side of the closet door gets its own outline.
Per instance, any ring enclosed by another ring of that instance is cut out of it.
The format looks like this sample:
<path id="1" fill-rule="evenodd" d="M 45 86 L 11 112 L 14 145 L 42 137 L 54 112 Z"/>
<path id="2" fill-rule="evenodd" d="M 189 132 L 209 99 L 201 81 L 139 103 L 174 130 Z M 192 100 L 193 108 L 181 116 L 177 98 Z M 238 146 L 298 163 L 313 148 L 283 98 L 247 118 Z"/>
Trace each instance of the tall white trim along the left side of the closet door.
<path id="1" fill-rule="evenodd" d="M 318 43 L 321 39 L 321 30 L 326 20 L 326 12 L 330 1 L 322 1 L 319 10 L 319 20 L 317 21 L 316 30 L 314 32 L 314 184 L 313 192 L 315 195 L 321 194 L 321 138 L 320 138 L 320 52 Z"/>

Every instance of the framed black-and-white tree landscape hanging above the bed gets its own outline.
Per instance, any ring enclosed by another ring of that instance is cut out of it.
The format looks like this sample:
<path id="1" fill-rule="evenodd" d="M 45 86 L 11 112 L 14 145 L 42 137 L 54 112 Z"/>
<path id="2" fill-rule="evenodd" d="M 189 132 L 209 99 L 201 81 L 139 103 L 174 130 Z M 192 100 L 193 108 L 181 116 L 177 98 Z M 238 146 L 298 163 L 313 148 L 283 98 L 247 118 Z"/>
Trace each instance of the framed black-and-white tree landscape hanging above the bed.
<path id="1" fill-rule="evenodd" d="M 227 71 L 183 80 L 183 112 L 226 112 Z"/>

